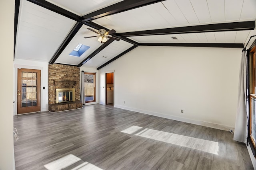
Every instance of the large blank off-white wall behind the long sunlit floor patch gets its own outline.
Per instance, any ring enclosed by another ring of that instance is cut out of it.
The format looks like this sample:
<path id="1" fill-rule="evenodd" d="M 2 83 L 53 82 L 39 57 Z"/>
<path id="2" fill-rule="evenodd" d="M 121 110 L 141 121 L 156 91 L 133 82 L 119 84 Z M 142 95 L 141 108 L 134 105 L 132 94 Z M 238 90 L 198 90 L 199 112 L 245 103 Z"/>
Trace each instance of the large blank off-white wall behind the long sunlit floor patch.
<path id="1" fill-rule="evenodd" d="M 115 70 L 115 107 L 234 127 L 241 54 L 242 49 L 137 47 L 100 69 L 100 102 L 104 73 Z"/>

